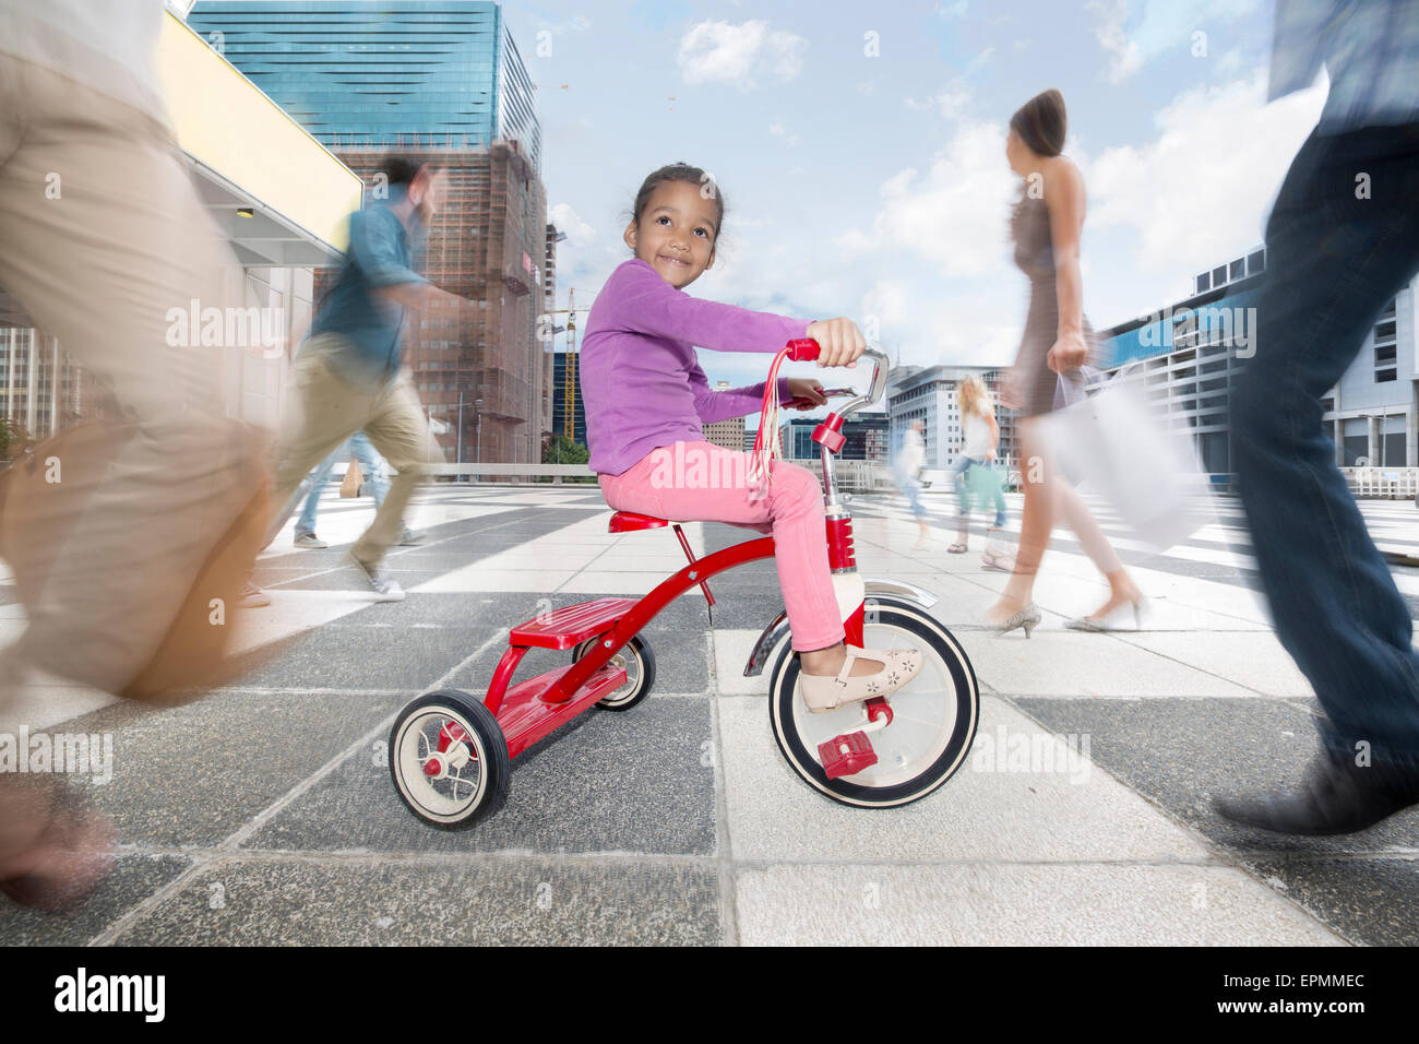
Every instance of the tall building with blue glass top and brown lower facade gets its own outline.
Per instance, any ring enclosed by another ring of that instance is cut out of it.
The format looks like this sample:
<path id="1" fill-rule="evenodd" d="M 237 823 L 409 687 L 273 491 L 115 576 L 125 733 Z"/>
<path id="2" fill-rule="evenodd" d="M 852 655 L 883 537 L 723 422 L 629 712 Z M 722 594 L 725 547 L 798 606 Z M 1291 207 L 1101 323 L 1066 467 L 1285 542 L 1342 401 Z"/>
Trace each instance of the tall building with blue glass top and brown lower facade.
<path id="1" fill-rule="evenodd" d="M 502 9 L 474 0 L 201 0 L 189 24 L 380 192 L 386 155 L 437 163 L 443 206 L 421 273 L 475 304 L 430 308 L 404 352 L 443 457 L 541 460 L 553 256 L 531 78 Z M 316 294 L 332 273 L 322 273 Z M 481 435 L 477 432 L 481 430 Z"/>

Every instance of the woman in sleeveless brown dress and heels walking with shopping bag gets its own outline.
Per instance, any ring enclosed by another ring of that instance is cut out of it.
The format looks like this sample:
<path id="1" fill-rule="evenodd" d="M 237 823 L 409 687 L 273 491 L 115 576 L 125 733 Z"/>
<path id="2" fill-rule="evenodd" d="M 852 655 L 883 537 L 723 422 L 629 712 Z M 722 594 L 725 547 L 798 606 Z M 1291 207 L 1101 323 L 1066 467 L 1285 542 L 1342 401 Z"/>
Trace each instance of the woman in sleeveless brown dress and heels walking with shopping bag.
<path id="1" fill-rule="evenodd" d="M 1141 619 L 1142 609 L 1142 595 L 1104 531 L 1073 487 L 1051 472 L 1049 447 L 1040 433 L 1039 418 L 1054 409 L 1060 376 L 1084 365 L 1094 342 L 1094 331 L 1084 320 L 1078 268 L 1084 179 L 1078 168 L 1060 155 L 1066 122 L 1064 98 L 1059 91 L 1046 91 L 1010 116 L 1005 146 L 1010 169 L 1023 179 L 1020 202 L 1010 219 L 1015 263 L 1030 278 L 1025 337 L 1002 393 L 1002 402 L 1019 410 L 1025 511 L 1015 572 L 986 619 L 1002 632 L 1023 628 L 1026 638 L 1042 619 L 1034 605 L 1034 574 L 1060 516 L 1110 585 L 1104 605 L 1066 626 L 1104 631 L 1115 609 L 1132 605 L 1135 621 Z"/>

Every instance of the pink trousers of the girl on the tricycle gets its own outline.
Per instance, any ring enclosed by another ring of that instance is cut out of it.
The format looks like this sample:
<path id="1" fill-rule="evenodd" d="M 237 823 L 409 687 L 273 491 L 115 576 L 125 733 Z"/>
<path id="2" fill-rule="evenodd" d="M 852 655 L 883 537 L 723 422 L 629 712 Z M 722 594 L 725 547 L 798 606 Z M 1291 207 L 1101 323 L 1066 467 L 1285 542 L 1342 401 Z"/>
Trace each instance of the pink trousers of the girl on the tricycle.
<path id="1" fill-rule="evenodd" d="M 823 487 L 807 469 L 775 460 L 768 496 L 755 497 L 745 476 L 749 455 L 708 442 L 677 442 L 647 453 L 620 474 L 600 477 L 606 503 L 671 521 L 719 521 L 773 534 L 783 608 L 799 652 L 843 641 L 843 618 L 827 565 Z"/>

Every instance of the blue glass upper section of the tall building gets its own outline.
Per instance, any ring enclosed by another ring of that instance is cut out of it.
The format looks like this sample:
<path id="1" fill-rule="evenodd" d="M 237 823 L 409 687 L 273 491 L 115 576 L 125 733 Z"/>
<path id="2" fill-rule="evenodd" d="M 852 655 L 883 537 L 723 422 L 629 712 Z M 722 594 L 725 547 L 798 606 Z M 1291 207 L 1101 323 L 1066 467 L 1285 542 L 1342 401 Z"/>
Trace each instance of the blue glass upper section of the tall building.
<path id="1" fill-rule="evenodd" d="M 200 0 L 187 24 L 331 149 L 487 146 L 542 168 L 532 81 L 481 0 Z"/>

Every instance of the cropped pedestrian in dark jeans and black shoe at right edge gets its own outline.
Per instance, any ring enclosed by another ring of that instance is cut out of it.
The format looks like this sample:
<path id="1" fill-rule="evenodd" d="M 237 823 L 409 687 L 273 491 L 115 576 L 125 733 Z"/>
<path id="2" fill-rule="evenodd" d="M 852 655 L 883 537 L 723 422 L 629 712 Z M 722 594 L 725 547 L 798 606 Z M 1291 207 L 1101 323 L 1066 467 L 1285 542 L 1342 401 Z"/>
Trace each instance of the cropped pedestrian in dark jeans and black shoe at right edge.
<path id="1" fill-rule="evenodd" d="M 1419 271 L 1419 0 L 1280 3 L 1271 98 L 1330 95 L 1266 227 L 1256 357 L 1232 396 L 1232 453 L 1276 635 L 1325 716 L 1301 785 L 1223 800 L 1284 834 L 1364 830 L 1419 803 L 1419 656 L 1321 398 Z"/>

